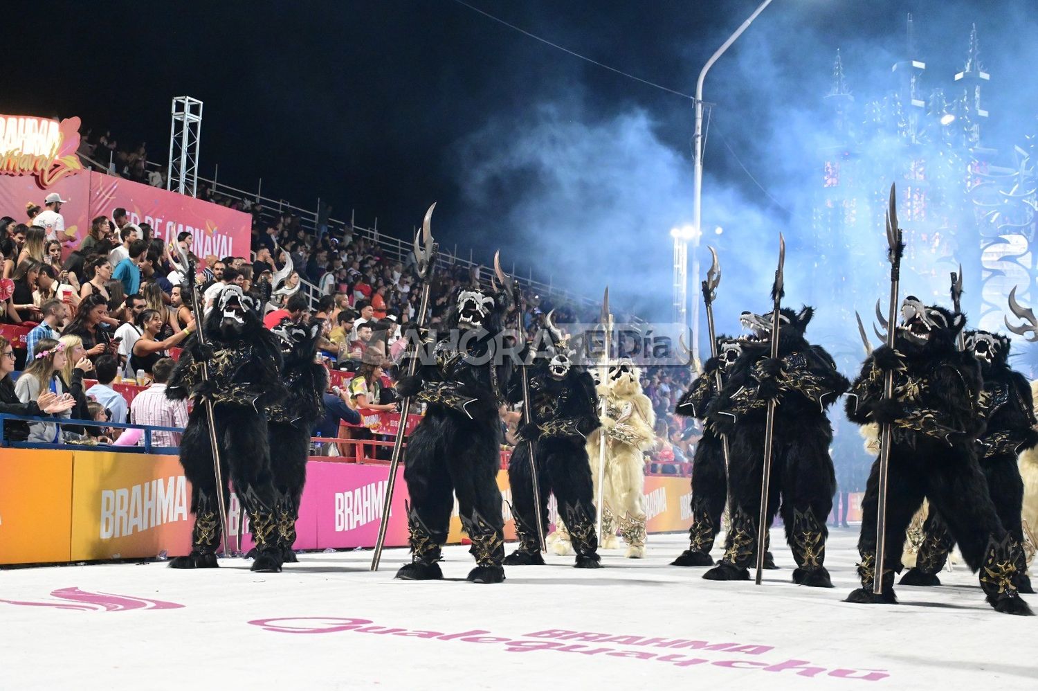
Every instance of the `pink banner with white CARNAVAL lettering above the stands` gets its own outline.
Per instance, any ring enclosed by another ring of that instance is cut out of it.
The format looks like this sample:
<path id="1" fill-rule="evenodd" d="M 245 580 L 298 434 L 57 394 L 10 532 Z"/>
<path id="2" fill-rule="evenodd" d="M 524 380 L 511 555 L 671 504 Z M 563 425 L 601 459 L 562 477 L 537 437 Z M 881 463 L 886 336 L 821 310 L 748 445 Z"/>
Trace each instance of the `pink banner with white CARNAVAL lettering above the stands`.
<path id="1" fill-rule="evenodd" d="M 111 218 L 112 211 L 118 207 L 127 210 L 131 222 L 149 224 L 156 237 L 167 244 L 175 240 L 181 232 L 191 233 L 194 236 L 192 250 L 197 257 L 248 257 L 252 218 L 247 213 L 158 187 L 91 172 L 91 213 Z"/>

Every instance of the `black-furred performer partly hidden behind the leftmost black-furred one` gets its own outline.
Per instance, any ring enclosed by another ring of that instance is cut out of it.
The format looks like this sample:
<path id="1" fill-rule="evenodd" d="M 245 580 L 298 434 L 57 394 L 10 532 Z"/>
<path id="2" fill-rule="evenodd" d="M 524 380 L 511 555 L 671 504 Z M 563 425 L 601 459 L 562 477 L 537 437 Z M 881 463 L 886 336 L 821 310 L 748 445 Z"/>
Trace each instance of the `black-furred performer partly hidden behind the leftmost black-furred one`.
<path id="1" fill-rule="evenodd" d="M 323 395 L 328 390 L 328 370 L 316 362 L 320 321 L 303 325 L 284 320 L 274 334 L 281 340 L 281 379 L 289 395 L 267 406 L 267 431 L 276 493 L 277 542 L 284 561 L 294 562 L 298 560 L 292 546 L 306 482 L 310 436 L 325 415 Z"/>

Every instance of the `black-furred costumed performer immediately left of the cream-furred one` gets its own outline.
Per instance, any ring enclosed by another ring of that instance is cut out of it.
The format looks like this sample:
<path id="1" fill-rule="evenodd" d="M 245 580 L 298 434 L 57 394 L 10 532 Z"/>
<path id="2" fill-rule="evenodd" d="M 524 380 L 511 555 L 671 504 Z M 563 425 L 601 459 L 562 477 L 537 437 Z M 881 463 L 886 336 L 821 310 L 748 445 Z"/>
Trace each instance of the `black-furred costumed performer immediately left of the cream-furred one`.
<path id="1" fill-rule="evenodd" d="M 550 318 L 550 315 L 549 315 Z M 550 319 L 549 319 L 550 324 Z M 536 445 L 538 490 L 541 497 L 541 529 L 548 532 L 548 494 L 554 493 L 558 515 L 569 531 L 577 568 L 598 568 L 598 536 L 588 434 L 601 426 L 595 381 L 582 368 L 573 367 L 565 352 L 561 333 L 552 333 L 552 345 L 534 356 L 528 387 L 532 421 L 519 428 L 522 441 L 509 459 L 512 513 L 519 547 L 506 557 L 509 565 L 543 564 L 530 482 L 530 443 Z M 532 356 L 532 355 L 531 355 Z M 512 375 L 509 401 L 523 399 L 522 372 Z"/>

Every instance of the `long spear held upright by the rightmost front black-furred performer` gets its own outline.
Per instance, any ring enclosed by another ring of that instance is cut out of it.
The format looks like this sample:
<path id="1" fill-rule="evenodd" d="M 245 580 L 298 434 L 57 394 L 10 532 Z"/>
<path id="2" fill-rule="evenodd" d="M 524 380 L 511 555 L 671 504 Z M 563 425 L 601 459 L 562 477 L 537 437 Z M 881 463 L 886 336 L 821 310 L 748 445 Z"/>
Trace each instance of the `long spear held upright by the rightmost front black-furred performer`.
<path id="1" fill-rule="evenodd" d="M 901 229 L 898 227 L 898 202 L 895 185 L 891 185 L 891 204 L 886 212 L 886 259 L 891 262 L 891 303 L 886 320 L 886 347 L 894 350 L 897 335 L 898 289 L 901 283 Z M 883 397 L 894 398 L 894 371 L 886 372 L 883 380 Z M 879 446 L 879 493 L 876 505 L 876 565 L 872 578 L 872 592 L 883 593 L 883 563 L 886 557 L 886 480 L 891 466 L 891 437 L 893 428 L 883 423 L 880 429 Z"/>

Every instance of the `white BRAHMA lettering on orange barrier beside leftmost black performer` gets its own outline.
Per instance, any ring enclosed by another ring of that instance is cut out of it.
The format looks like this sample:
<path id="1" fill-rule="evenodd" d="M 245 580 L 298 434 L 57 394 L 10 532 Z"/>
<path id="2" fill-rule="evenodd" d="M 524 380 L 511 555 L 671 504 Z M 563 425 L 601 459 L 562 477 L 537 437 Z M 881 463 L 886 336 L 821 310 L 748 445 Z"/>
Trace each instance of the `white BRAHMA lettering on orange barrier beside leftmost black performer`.
<path id="1" fill-rule="evenodd" d="M 101 491 L 101 539 L 125 537 L 188 519 L 187 481 L 183 475 Z"/>

